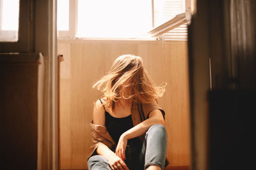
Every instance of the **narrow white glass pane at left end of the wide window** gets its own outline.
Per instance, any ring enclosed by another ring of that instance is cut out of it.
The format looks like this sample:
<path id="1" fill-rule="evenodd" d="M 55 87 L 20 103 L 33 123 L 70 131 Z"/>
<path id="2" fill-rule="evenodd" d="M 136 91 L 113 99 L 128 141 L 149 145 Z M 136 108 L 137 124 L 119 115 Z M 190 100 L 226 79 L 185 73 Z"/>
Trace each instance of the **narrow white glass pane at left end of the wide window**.
<path id="1" fill-rule="evenodd" d="M 58 0 L 57 15 L 58 15 L 58 31 L 69 30 L 69 0 Z"/>

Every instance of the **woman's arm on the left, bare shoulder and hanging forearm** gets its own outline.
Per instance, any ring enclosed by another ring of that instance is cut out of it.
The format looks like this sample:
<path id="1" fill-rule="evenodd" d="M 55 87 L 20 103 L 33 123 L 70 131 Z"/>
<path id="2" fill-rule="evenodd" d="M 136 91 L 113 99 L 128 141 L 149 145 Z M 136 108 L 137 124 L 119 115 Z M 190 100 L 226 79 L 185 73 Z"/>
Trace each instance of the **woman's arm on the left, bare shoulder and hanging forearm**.
<path id="1" fill-rule="evenodd" d="M 93 124 L 105 125 L 105 110 L 99 100 L 95 103 L 93 107 Z M 104 143 L 101 143 L 98 146 L 96 152 L 99 155 L 102 155 L 106 157 L 106 159 L 108 159 L 111 169 L 117 169 L 115 168 L 115 166 L 119 169 L 121 169 L 121 167 L 123 169 L 128 169 L 124 161 L 120 159 L 120 157 L 118 157 L 112 150 L 110 150 L 108 146 L 104 145 Z"/>

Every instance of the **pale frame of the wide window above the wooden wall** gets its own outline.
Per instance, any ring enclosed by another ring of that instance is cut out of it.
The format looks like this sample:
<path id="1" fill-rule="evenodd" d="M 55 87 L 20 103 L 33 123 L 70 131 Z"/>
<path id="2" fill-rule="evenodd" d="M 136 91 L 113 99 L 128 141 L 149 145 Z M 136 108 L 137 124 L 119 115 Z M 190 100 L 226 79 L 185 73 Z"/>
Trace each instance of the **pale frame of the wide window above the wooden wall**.
<path id="1" fill-rule="evenodd" d="M 69 0 L 69 30 L 68 31 L 58 31 L 58 39 L 99 39 L 99 40 L 147 40 L 147 41 L 156 41 L 156 40 L 163 40 L 164 39 L 164 33 L 168 32 L 172 29 L 175 29 L 176 27 L 179 27 L 179 25 L 182 25 L 184 23 L 189 23 L 191 18 L 191 6 L 194 8 L 196 0 L 185 0 L 185 8 L 186 8 L 186 17 L 183 17 L 180 22 L 177 23 L 177 18 L 172 18 L 168 22 L 164 22 L 164 24 L 159 25 L 157 27 L 154 27 L 154 0 L 151 0 L 152 3 L 152 30 L 149 32 L 154 32 L 154 29 L 161 27 L 163 29 L 163 32 L 161 34 L 157 34 L 157 36 L 152 36 L 152 38 L 77 38 L 76 37 L 76 31 L 77 31 L 77 0 Z M 177 16 L 183 15 L 183 13 L 178 14 Z M 173 24 L 170 29 L 170 24 Z M 166 24 L 167 23 L 167 24 Z M 168 29 L 167 29 L 168 28 Z M 170 40 L 173 41 L 173 40 Z M 187 39 L 182 41 L 188 41 Z"/>

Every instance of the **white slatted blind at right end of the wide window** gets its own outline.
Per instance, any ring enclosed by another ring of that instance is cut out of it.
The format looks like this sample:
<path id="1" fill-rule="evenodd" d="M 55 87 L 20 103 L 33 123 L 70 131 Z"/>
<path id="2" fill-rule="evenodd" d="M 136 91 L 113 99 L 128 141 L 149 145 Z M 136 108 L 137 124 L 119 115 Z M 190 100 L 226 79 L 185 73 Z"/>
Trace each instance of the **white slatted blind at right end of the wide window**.
<path id="1" fill-rule="evenodd" d="M 156 0 L 154 1 L 154 21 L 158 26 L 186 11 L 185 0 Z M 161 35 L 163 40 L 186 41 L 188 25 L 182 24 Z"/>

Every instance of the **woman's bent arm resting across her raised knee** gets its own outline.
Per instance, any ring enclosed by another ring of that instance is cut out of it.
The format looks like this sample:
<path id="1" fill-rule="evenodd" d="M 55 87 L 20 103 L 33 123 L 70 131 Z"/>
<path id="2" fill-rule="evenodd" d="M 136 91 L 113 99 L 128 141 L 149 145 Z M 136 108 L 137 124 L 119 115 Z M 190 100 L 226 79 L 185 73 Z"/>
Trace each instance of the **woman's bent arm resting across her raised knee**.
<path id="1" fill-rule="evenodd" d="M 164 118 L 160 110 L 153 110 L 149 113 L 149 118 L 144 120 L 140 124 L 132 127 L 128 131 L 124 132 L 118 141 L 118 145 L 116 146 L 116 155 L 118 157 L 125 159 L 125 148 L 127 146 L 127 140 L 136 138 L 145 134 L 148 128 L 154 124 L 162 124 L 164 125 Z"/>

